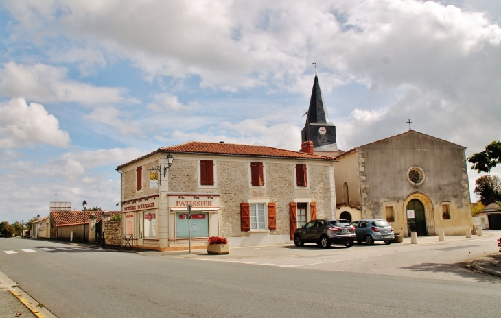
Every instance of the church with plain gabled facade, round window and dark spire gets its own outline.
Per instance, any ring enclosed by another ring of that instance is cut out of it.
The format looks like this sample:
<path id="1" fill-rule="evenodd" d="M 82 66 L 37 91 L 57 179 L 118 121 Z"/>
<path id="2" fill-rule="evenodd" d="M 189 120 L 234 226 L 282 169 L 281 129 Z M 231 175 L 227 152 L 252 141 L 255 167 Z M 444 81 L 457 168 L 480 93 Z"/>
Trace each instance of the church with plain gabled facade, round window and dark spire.
<path id="1" fill-rule="evenodd" d="M 464 235 L 472 228 L 465 147 L 409 130 L 340 151 L 315 74 L 302 142 L 336 158 L 336 217 L 386 219 L 410 236 Z"/>

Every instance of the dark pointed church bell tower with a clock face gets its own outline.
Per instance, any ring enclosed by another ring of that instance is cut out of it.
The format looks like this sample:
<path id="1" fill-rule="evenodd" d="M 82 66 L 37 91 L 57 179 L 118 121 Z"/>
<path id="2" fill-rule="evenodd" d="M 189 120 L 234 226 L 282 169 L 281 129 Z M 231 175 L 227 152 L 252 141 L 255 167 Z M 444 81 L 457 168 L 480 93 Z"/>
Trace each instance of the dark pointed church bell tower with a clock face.
<path id="1" fill-rule="evenodd" d="M 301 142 L 313 142 L 314 152 L 337 152 L 336 126 L 329 121 L 318 77 L 315 73 L 310 108 L 308 108 L 305 127 L 301 131 Z"/>

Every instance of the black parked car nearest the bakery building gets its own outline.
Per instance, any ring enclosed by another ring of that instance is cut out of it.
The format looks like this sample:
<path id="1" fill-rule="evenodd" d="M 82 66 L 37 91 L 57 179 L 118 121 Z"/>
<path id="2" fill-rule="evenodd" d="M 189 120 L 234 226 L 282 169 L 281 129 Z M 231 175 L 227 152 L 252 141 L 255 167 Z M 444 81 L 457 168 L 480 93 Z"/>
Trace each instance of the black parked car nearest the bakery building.
<path id="1" fill-rule="evenodd" d="M 294 244 L 317 243 L 327 248 L 331 244 L 352 247 L 355 242 L 355 228 L 347 220 L 316 219 L 294 231 Z"/>

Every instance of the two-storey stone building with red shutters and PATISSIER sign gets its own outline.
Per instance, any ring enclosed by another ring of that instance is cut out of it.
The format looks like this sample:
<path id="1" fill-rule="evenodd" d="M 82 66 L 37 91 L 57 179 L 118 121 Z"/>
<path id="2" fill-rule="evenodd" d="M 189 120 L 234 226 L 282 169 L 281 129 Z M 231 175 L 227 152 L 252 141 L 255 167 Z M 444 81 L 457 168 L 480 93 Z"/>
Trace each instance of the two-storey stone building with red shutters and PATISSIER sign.
<path id="1" fill-rule="evenodd" d="M 334 158 L 302 146 L 190 142 L 121 164 L 122 232 L 158 250 L 186 249 L 189 234 L 198 247 L 209 236 L 231 246 L 291 243 L 298 226 L 336 211 Z"/>

